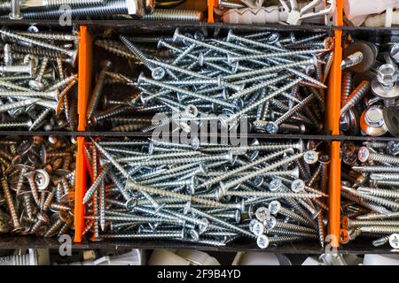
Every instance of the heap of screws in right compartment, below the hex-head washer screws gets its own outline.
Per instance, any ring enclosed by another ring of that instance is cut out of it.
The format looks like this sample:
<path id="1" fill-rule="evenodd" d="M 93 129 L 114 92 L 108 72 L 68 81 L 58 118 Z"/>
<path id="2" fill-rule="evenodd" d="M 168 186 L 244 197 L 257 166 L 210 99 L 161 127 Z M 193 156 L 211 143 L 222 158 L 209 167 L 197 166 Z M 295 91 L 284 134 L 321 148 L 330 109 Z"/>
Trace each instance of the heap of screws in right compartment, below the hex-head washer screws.
<path id="1" fill-rule="evenodd" d="M 364 236 L 385 245 L 399 233 L 399 142 L 345 142 L 342 153 L 342 241 Z"/>

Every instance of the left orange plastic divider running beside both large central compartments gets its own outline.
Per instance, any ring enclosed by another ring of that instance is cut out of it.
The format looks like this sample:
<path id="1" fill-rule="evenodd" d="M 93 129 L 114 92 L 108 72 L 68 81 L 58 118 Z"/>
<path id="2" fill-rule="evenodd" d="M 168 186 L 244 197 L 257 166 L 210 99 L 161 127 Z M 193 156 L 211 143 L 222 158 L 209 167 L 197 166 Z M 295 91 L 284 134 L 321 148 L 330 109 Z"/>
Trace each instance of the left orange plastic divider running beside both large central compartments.
<path id="1" fill-rule="evenodd" d="M 86 106 L 90 95 L 91 82 L 91 36 L 88 27 L 80 27 L 79 42 L 79 86 L 78 86 L 78 131 L 84 132 L 86 128 Z M 84 205 L 82 204 L 86 189 L 87 167 L 84 162 L 84 137 L 77 138 L 77 155 L 75 170 L 75 203 L 74 203 L 74 241 L 82 241 L 84 229 Z"/>

